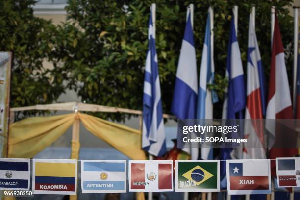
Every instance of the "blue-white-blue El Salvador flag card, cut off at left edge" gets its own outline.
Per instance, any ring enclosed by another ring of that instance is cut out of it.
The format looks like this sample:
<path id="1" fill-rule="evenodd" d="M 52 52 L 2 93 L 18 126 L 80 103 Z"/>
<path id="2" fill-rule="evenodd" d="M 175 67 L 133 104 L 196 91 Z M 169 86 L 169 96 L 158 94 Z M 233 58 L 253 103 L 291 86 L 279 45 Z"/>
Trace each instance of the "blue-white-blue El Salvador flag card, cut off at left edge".
<path id="1" fill-rule="evenodd" d="M 0 190 L 29 190 L 30 159 L 0 158 Z"/>

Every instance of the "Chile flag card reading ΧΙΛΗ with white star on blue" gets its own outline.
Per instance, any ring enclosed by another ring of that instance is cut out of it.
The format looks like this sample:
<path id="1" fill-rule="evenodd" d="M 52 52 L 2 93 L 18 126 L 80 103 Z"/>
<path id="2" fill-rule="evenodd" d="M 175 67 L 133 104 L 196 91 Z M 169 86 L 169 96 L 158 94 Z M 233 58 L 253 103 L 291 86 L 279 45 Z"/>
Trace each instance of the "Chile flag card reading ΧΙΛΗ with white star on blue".
<path id="1" fill-rule="evenodd" d="M 226 160 L 229 195 L 270 194 L 270 159 Z"/>

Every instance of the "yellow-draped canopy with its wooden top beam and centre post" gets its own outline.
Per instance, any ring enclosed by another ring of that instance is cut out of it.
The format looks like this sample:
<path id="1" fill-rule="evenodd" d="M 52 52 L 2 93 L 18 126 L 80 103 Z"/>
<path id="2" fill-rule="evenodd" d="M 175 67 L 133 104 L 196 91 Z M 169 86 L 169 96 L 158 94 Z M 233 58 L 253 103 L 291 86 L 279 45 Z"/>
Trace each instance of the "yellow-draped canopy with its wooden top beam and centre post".
<path id="1" fill-rule="evenodd" d="M 139 110 L 69 102 L 11 108 L 11 119 L 13 119 L 14 112 L 25 110 L 64 110 L 74 111 L 74 113 L 58 116 L 32 117 L 11 123 L 7 140 L 7 157 L 32 158 L 50 146 L 73 125 L 70 157 L 71 159 L 78 159 L 80 149 L 79 123 L 81 121 L 85 128 L 92 134 L 104 140 L 129 158 L 133 160 L 146 159 L 145 152 L 141 147 L 141 128 L 140 130 L 133 129 L 78 112 L 123 112 L 141 115 L 142 112 Z M 174 118 L 174 116 L 166 114 L 163 117 Z M 142 193 L 138 193 L 137 197 L 139 195 L 142 195 Z M 144 195 L 142 196 L 144 197 Z M 142 196 L 138 199 L 143 199 Z M 70 197 L 72 200 L 76 199 L 75 195 L 71 195 Z"/>

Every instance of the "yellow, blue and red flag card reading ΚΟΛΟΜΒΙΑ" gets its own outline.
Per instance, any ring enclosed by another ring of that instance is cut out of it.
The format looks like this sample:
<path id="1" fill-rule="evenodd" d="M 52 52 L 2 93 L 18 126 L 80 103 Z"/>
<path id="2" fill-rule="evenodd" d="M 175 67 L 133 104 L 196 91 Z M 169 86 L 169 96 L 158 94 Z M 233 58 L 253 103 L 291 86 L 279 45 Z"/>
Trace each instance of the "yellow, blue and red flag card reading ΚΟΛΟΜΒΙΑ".
<path id="1" fill-rule="evenodd" d="M 34 194 L 76 195 L 77 160 L 33 159 Z"/>

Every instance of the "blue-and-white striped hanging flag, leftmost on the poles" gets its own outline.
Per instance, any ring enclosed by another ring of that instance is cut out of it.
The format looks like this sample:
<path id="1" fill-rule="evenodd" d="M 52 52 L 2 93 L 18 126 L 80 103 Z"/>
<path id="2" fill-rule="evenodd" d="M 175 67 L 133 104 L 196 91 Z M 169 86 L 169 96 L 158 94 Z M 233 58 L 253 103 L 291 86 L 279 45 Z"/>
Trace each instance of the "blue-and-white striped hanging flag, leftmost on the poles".
<path id="1" fill-rule="evenodd" d="M 163 156 L 167 147 L 151 12 L 148 39 L 149 50 L 146 58 L 143 95 L 142 147 L 152 155 Z"/>

